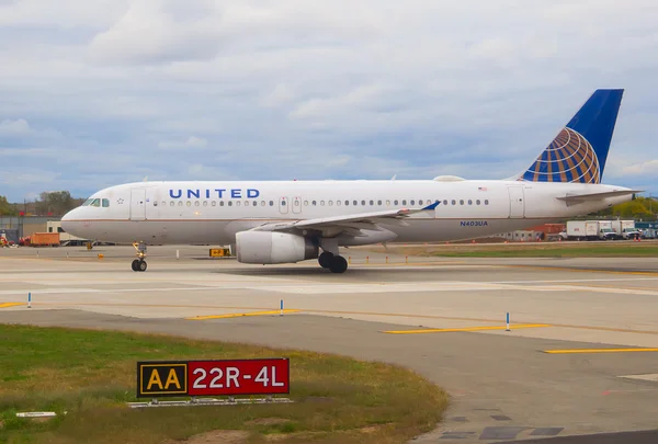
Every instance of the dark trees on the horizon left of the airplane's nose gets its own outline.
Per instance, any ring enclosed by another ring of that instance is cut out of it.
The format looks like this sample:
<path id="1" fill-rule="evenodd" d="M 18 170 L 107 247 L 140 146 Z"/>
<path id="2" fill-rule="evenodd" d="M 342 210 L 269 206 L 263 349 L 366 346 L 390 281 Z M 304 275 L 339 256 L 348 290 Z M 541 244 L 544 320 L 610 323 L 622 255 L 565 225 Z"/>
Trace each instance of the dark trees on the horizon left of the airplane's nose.
<path id="1" fill-rule="evenodd" d="M 43 192 L 34 201 L 10 203 L 0 195 L 0 216 L 53 216 L 61 217 L 82 205 L 84 198 L 72 197 L 68 191 Z"/>

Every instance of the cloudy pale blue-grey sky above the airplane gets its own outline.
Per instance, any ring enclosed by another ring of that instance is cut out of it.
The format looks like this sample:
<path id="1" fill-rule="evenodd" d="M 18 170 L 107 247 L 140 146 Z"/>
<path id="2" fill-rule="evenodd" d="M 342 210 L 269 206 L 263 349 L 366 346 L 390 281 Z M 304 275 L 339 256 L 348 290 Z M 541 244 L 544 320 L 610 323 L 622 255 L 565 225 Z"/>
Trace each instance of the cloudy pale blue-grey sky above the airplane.
<path id="1" fill-rule="evenodd" d="M 503 179 L 597 88 L 658 194 L 655 0 L 0 0 L 0 195 L 148 180 Z"/>

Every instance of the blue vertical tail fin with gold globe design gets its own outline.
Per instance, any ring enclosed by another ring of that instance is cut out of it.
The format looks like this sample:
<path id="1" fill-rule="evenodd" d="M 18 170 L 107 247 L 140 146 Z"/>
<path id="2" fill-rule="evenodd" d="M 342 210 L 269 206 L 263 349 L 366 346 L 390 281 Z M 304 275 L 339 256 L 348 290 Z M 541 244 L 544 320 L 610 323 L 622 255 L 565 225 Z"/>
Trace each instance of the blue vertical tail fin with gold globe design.
<path id="1" fill-rule="evenodd" d="M 624 90 L 597 90 L 520 181 L 601 183 Z"/>

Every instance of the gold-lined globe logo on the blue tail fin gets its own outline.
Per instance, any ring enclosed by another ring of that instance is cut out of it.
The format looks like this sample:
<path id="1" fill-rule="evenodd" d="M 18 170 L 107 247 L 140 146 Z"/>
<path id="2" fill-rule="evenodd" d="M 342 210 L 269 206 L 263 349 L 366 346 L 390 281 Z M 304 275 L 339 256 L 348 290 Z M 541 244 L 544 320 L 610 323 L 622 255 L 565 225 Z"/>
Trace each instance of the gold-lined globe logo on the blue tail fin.
<path id="1" fill-rule="evenodd" d="M 600 183 L 599 158 L 581 134 L 564 128 L 519 180 Z"/>

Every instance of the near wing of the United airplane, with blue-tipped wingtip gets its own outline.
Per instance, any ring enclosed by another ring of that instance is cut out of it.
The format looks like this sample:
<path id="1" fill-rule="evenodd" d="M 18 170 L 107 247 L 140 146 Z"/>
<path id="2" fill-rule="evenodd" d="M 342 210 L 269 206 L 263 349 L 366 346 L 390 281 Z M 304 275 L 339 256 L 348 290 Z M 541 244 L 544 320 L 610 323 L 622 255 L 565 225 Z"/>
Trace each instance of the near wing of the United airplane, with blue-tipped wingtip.
<path id="1" fill-rule="evenodd" d="M 377 224 L 407 225 L 404 219 L 413 215 L 433 212 L 439 205 L 434 202 L 422 208 L 399 208 L 386 212 L 358 213 L 344 216 L 320 217 L 316 219 L 291 220 L 285 223 L 264 224 L 252 231 L 320 231 L 322 236 L 332 237 L 342 232 L 359 236 L 362 229 L 379 230 Z"/>

